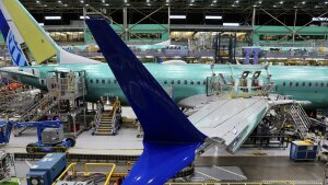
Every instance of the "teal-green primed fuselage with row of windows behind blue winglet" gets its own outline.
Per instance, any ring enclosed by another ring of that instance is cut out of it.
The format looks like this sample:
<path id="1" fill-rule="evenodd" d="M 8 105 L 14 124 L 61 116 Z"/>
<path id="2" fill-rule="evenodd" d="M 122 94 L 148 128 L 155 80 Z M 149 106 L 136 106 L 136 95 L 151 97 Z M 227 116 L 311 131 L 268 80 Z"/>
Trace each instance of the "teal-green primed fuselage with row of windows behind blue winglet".
<path id="1" fill-rule="evenodd" d="M 172 90 L 175 102 L 183 99 L 207 93 L 207 78 L 212 76 L 210 65 L 159 65 L 145 63 L 147 69 L 165 89 Z M 81 71 L 86 72 L 87 101 L 95 102 L 101 96 L 118 96 L 124 103 L 127 100 L 116 82 L 113 72 L 107 63 L 98 65 L 55 65 L 21 67 L 21 70 L 34 68 L 39 71 L 39 79 L 20 77 L 21 81 L 46 90 L 40 80 L 46 79 L 47 71 Z M 261 70 L 261 79 L 267 78 L 267 71 L 262 66 L 231 66 L 215 65 L 213 71 L 224 76 L 241 77 L 243 71 Z M 271 81 L 277 85 L 277 93 L 280 95 L 291 95 L 297 101 L 308 101 L 311 107 L 328 107 L 328 68 L 327 67 L 284 67 L 271 66 L 269 73 Z M 122 74 L 125 76 L 125 74 Z"/>

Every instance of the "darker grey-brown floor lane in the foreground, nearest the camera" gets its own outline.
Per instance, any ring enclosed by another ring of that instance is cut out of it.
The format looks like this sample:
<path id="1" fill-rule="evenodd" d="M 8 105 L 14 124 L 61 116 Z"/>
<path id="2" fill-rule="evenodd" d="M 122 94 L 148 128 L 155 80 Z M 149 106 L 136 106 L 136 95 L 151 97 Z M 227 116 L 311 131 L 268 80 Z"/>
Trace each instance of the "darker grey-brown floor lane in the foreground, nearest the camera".
<path id="1" fill-rule="evenodd" d="M 16 177 L 24 178 L 30 166 L 35 162 L 15 161 Z M 84 165 L 83 162 L 78 164 L 80 169 Z M 323 162 L 294 162 L 286 157 L 200 157 L 195 165 L 197 178 L 229 182 L 323 182 L 325 171 Z M 117 166 L 116 172 L 127 172 L 126 164 L 120 163 Z M 104 172 L 105 170 L 95 169 L 95 171 Z"/>

